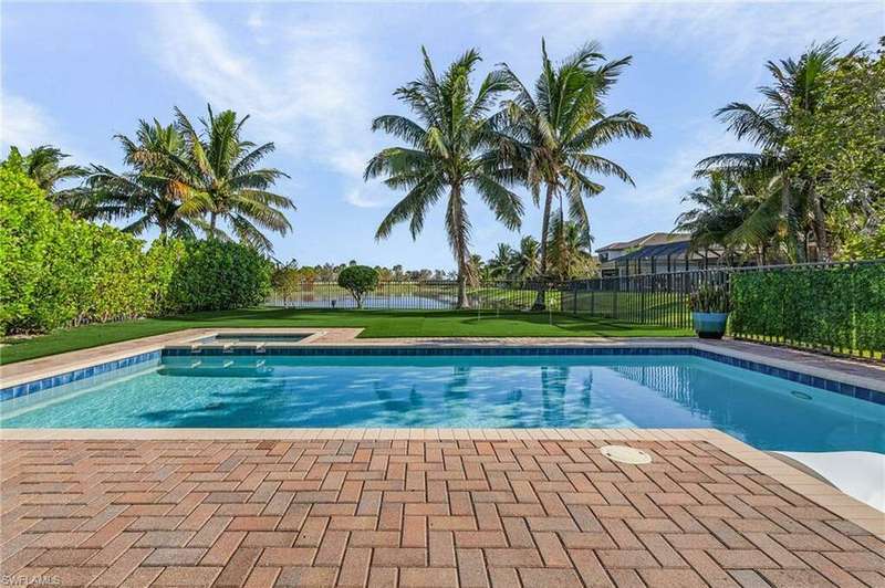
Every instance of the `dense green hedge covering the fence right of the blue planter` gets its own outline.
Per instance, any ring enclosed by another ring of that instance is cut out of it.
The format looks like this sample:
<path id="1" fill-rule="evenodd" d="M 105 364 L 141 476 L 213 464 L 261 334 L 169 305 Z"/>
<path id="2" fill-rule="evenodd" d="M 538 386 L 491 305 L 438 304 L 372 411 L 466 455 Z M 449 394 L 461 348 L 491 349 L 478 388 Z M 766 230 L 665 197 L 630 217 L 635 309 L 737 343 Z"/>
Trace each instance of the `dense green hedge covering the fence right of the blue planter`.
<path id="1" fill-rule="evenodd" d="M 885 263 L 738 273 L 731 301 L 737 336 L 873 357 L 885 351 Z"/>

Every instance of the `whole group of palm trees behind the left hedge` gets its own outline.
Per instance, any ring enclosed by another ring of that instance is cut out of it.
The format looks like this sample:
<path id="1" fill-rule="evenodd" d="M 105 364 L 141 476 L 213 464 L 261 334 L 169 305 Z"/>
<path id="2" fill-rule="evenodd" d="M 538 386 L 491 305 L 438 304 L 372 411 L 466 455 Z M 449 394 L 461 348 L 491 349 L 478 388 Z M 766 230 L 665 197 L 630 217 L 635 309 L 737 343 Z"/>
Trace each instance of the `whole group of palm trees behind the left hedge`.
<path id="1" fill-rule="evenodd" d="M 123 230 L 133 234 L 156 228 L 162 241 L 201 233 L 270 252 L 266 232 L 291 230 L 283 211 L 294 204 L 271 191 L 288 176 L 260 167 L 274 146 L 242 137 L 248 118 L 233 111 L 216 114 L 210 106 L 199 126 L 178 108 L 170 125 L 139 120 L 134 138 L 115 136 L 127 166 L 123 172 L 101 165 L 64 166 L 67 156 L 49 146 L 32 150 L 24 161 L 50 199 L 81 218 L 123 220 Z M 56 190 L 59 182 L 71 179 L 83 183 Z"/>

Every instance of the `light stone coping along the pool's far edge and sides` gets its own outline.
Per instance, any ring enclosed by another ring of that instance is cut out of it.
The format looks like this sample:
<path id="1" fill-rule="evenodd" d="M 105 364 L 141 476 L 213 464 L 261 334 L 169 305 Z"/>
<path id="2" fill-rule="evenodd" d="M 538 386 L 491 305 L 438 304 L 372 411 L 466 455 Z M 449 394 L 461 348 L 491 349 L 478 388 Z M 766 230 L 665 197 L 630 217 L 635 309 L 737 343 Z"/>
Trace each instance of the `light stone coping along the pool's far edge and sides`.
<path id="1" fill-rule="evenodd" d="M 163 351 L 167 348 L 187 348 L 191 349 L 200 346 L 199 339 L 217 335 L 219 333 L 268 333 L 268 334 L 287 334 L 287 335 L 308 335 L 305 338 L 292 343 L 274 342 L 269 346 L 277 348 L 342 348 L 342 347 L 356 347 L 356 348 L 486 348 L 486 347 L 601 347 L 601 348 L 674 348 L 674 349 L 694 349 L 700 351 L 701 357 L 704 354 L 711 354 L 714 356 L 726 357 L 735 360 L 738 367 L 740 363 L 756 364 L 758 366 L 766 366 L 772 370 L 783 370 L 784 372 L 799 374 L 806 378 L 795 378 L 794 381 L 801 384 L 809 384 L 822 389 L 827 389 L 836 393 L 845 393 L 846 396 L 854 397 L 855 393 L 846 393 L 840 390 L 840 386 L 829 387 L 825 381 L 814 382 L 813 379 L 829 380 L 837 385 L 846 385 L 848 387 L 860 388 L 863 390 L 872 390 L 879 392 L 877 399 L 878 403 L 885 397 L 885 368 L 870 365 L 866 363 L 851 361 L 845 359 L 823 358 L 821 356 L 809 354 L 806 351 L 799 351 L 793 349 L 785 349 L 779 347 L 771 347 L 763 344 L 736 342 L 730 339 L 709 340 L 709 339 L 695 339 L 688 337 L 624 337 L 624 338 L 604 338 L 604 337 L 414 337 L 414 338 L 366 338 L 357 339 L 356 337 L 362 333 L 362 328 L 291 328 L 291 327 L 263 327 L 263 328 L 247 328 L 247 327 L 220 327 L 220 328 L 194 328 L 178 330 L 175 333 L 157 335 L 153 337 L 145 337 L 142 339 L 132 339 L 127 342 L 93 347 L 88 349 L 80 349 L 69 351 L 55 356 L 49 356 L 15 364 L 0 366 L 0 389 L 7 390 L 10 388 L 19 387 L 23 384 L 54 378 L 69 372 L 74 372 L 82 369 L 87 369 L 98 365 L 110 364 L 113 361 L 125 360 L 131 357 L 144 356 L 146 354 Z M 254 348 L 254 344 L 244 345 L 202 345 L 204 348 Z M 756 371 L 768 372 L 766 370 L 756 369 Z M 777 376 L 777 374 L 774 374 Z M 785 375 L 780 375 L 785 379 Z M 803 381 L 808 380 L 808 381 Z M 835 389 L 834 389 L 835 388 Z M 876 400 L 871 398 L 862 398 L 868 401 Z"/>

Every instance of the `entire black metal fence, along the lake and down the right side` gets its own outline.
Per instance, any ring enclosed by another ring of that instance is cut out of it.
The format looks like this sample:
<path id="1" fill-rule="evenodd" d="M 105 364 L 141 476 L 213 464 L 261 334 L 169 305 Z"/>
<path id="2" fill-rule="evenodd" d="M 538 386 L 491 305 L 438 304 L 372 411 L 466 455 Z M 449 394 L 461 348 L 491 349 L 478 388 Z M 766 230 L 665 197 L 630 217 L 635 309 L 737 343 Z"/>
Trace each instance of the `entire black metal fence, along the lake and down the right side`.
<path id="1" fill-rule="evenodd" d="M 763 267 L 717 267 L 571 282 L 483 281 L 468 287 L 476 311 L 546 309 L 641 325 L 690 329 L 690 297 L 704 285 L 727 288 L 731 335 L 766 343 L 882 359 L 885 260 Z M 539 294 L 542 293 L 542 294 Z M 383 282 L 365 297 L 378 309 L 451 309 L 457 282 Z M 353 308 L 334 282 L 303 282 L 268 301 L 295 308 Z"/>

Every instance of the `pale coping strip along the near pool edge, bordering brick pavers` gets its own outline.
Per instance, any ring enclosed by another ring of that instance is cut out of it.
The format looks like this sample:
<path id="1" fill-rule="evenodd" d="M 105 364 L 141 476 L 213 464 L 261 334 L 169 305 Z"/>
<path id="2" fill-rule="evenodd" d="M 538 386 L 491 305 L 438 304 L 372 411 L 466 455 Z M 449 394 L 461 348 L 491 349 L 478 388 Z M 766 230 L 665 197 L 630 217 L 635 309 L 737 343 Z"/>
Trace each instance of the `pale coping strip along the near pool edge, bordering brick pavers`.
<path id="1" fill-rule="evenodd" d="M 819 506 L 885 538 L 885 513 L 716 429 L 0 429 L 0 441 L 707 441 Z"/>

